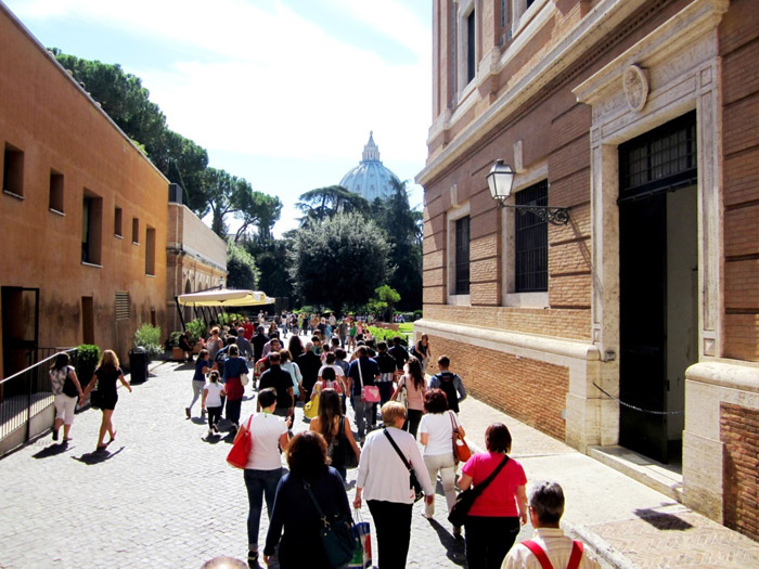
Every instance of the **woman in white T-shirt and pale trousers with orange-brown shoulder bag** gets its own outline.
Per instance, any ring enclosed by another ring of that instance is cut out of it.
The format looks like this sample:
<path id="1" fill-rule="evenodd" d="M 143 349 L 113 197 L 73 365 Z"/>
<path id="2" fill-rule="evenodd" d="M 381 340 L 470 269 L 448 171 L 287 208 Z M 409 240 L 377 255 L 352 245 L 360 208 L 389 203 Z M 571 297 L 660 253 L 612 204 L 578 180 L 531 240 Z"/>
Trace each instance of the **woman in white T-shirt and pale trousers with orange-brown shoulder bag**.
<path id="1" fill-rule="evenodd" d="M 459 423 L 455 413 L 448 411 L 448 398 L 442 389 L 430 389 L 424 396 L 426 414 L 420 423 L 419 440 L 424 447 L 424 464 L 427 466 L 429 479 L 437 480 L 438 473 L 446 493 L 448 512 L 455 504 L 455 458 L 453 457 L 453 429 L 458 428 L 462 437 L 464 428 Z M 435 514 L 435 503 L 425 509 L 425 517 Z M 461 535 L 461 528 L 453 528 L 454 535 Z"/>

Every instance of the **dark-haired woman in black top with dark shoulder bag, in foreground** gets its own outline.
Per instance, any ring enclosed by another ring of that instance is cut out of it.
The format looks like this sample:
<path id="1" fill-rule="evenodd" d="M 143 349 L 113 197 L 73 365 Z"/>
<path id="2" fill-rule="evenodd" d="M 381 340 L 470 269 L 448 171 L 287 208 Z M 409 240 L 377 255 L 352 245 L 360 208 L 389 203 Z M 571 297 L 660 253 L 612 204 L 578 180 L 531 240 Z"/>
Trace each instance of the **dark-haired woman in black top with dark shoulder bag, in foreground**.
<path id="1" fill-rule="evenodd" d="M 254 442 L 254 449 L 256 443 Z M 350 519 L 343 479 L 329 465 L 326 441 L 313 431 L 299 432 L 287 447 L 287 466 L 276 488 L 263 556 L 267 565 L 279 544 L 282 569 L 331 569 L 320 536 L 323 519 Z M 321 514 L 320 514 L 321 512 Z"/>

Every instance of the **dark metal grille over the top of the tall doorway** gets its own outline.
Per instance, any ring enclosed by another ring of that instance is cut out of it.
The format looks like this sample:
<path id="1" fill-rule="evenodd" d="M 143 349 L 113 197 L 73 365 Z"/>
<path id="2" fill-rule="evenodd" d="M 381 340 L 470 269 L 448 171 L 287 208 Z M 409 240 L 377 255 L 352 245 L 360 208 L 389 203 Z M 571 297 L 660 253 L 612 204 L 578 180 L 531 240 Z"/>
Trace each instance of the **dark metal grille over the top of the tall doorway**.
<path id="1" fill-rule="evenodd" d="M 695 113 L 619 146 L 620 198 L 690 185 L 697 173 Z"/>

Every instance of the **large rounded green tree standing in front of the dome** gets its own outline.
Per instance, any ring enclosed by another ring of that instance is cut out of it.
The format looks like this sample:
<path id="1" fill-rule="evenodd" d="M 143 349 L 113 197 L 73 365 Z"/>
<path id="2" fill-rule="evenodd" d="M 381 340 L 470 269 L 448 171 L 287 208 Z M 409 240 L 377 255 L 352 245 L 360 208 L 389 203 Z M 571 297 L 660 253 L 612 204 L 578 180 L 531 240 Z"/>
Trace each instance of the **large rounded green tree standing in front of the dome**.
<path id="1" fill-rule="evenodd" d="M 359 214 L 297 229 L 290 249 L 295 293 L 301 303 L 338 310 L 364 305 L 385 281 L 388 251 L 383 231 Z"/>

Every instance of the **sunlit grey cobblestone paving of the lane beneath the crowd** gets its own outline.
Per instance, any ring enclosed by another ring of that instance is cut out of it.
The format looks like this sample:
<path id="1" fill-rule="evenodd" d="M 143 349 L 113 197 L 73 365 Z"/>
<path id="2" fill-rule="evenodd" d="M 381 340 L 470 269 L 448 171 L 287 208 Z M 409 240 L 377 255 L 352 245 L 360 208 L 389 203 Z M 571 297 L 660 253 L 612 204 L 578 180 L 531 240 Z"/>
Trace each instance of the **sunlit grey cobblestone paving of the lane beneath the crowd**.
<path id="1" fill-rule="evenodd" d="M 206 441 L 200 417 L 186 419 L 191 378 L 189 365 L 164 363 L 131 395 L 119 389 L 118 432 L 106 453 L 92 452 L 100 412 L 87 410 L 67 448 L 48 436 L 0 461 L 0 567 L 184 568 L 217 555 L 244 559 L 242 473 L 224 462 L 229 440 Z M 243 417 L 254 408 L 246 400 Z M 306 428 L 298 410 L 294 430 Z M 441 489 L 436 500 L 445 512 Z M 408 567 L 465 566 L 463 542 L 443 516 L 428 521 L 422 508 L 414 506 Z M 365 506 L 363 517 L 371 522 Z"/>

